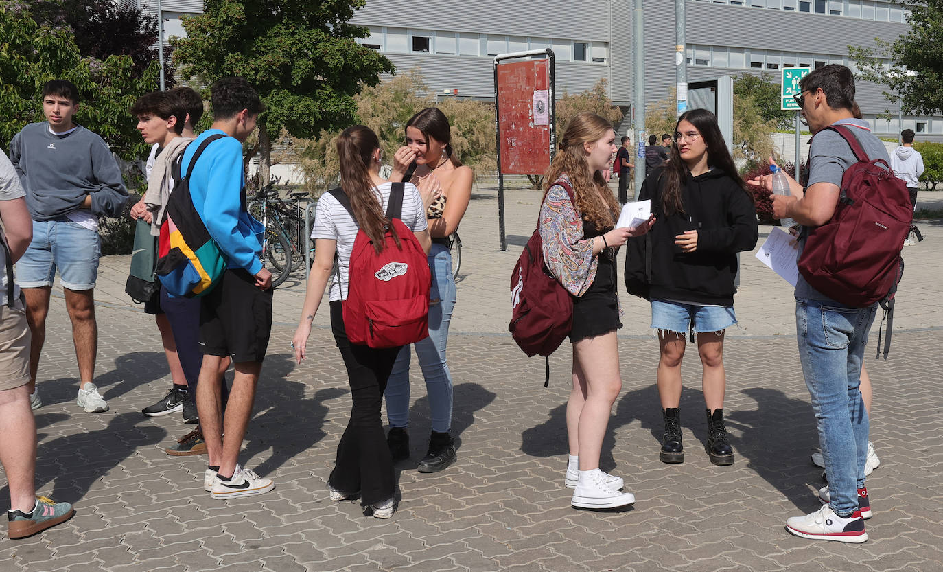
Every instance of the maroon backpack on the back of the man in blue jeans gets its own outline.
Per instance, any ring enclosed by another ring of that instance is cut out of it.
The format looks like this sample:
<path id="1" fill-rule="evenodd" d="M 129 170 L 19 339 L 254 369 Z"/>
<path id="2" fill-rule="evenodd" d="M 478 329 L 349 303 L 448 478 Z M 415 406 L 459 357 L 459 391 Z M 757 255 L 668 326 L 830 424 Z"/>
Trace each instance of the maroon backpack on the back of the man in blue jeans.
<path id="1" fill-rule="evenodd" d="M 810 286 L 855 308 L 886 304 L 901 279 L 901 250 L 914 210 L 904 182 L 883 159 L 869 160 L 845 126 L 828 126 L 858 162 L 845 171 L 832 219 L 808 228 L 799 272 Z"/>

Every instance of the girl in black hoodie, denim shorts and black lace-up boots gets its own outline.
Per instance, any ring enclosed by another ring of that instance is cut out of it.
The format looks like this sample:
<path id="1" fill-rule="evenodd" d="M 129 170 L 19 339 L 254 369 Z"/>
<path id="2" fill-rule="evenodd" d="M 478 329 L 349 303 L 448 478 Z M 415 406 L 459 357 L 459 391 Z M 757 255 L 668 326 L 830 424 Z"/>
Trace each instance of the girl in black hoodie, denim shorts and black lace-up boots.
<path id="1" fill-rule="evenodd" d="M 736 253 L 756 244 L 756 211 L 713 113 L 686 111 L 674 130 L 670 160 L 645 180 L 638 197 L 652 200 L 660 222 L 629 241 L 625 281 L 630 293 L 651 301 L 652 328 L 658 330 L 658 395 L 665 420 L 661 461 L 685 459 L 679 404 L 690 335 L 703 365 L 707 453 L 711 463 L 733 464 L 723 425 L 723 334 L 736 324 Z"/>

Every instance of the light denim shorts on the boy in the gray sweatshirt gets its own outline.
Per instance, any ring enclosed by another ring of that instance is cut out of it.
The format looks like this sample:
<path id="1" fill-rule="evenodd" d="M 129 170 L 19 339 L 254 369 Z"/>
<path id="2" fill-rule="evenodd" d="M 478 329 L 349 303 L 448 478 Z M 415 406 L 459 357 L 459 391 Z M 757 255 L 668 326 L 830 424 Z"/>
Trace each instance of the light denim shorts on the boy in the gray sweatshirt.
<path id="1" fill-rule="evenodd" d="M 33 221 L 33 241 L 16 263 L 21 288 L 52 286 L 56 269 L 62 287 L 91 290 L 98 278 L 101 239 L 70 220 Z"/>

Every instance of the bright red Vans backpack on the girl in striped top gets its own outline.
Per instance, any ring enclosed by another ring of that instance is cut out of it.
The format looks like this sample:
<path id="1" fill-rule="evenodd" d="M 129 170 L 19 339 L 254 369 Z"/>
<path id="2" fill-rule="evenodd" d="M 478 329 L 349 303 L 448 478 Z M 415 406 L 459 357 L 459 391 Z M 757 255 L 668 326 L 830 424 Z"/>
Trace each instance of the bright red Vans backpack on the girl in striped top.
<path id="1" fill-rule="evenodd" d="M 347 299 L 344 300 L 344 329 L 351 344 L 397 347 L 429 336 L 429 288 L 432 275 L 419 240 L 400 217 L 403 214 L 403 183 L 389 190 L 387 218 L 396 228 L 400 246 L 387 229 L 383 250 L 357 230 L 348 268 Z M 328 191 L 354 217 L 350 199 L 342 189 Z"/>

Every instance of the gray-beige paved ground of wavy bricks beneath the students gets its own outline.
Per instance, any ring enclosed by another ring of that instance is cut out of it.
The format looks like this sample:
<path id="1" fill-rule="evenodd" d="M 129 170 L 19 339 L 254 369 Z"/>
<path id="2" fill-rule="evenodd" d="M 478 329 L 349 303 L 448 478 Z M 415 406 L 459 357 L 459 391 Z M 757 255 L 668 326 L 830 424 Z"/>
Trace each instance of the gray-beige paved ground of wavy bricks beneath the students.
<path id="1" fill-rule="evenodd" d="M 943 193 L 926 194 L 943 203 Z M 170 379 L 153 319 L 124 295 L 127 258 L 108 257 L 96 291 L 96 382 L 111 410 L 90 415 L 74 405 L 74 350 L 58 290 L 41 362 L 46 405 L 37 412 L 38 490 L 74 502 L 77 514 L 31 539 L 0 540 L 0 570 L 943 569 L 943 271 L 937 246 L 943 244 L 943 222 L 922 223 L 927 240 L 904 249 L 907 271 L 890 359 L 876 361 L 869 353 L 872 441 L 882 464 L 869 478 L 870 540 L 851 546 L 807 541 L 784 530 L 787 516 L 819 507 L 814 492 L 823 483 L 809 463 L 817 439 L 796 356 L 791 292 L 747 253 L 736 298 L 740 328 L 730 331 L 726 351 L 726 412 L 736 463 L 717 467 L 703 453 L 694 353 L 683 366 L 687 461 L 658 462 L 657 345 L 647 305 L 623 297 L 623 392 L 605 439 L 603 468 L 626 479 L 637 504 L 626 513 L 572 510 L 562 482 L 570 351 L 564 347 L 553 356 L 551 385 L 544 389 L 543 362 L 524 358 L 505 333 L 510 270 L 534 227 L 540 195 L 507 193 L 507 252 L 497 251 L 495 196 L 478 190 L 461 228 L 449 353 L 459 460 L 435 475 L 416 472 L 429 417 L 414 373 L 412 458 L 398 466 L 401 495 L 391 520 L 363 515 L 356 502 L 327 499 L 325 479 L 350 397 L 325 312 L 316 320 L 309 360 L 292 362 L 301 277 L 275 293 L 276 325 L 241 455 L 276 488 L 265 496 L 217 501 L 202 490 L 205 457 L 163 453 L 190 427 L 177 415 L 141 415 Z M 762 237 L 768 232 L 761 228 Z M 872 339 L 869 352 L 875 345 Z M 6 488 L 0 498 L 8 498 Z"/>

